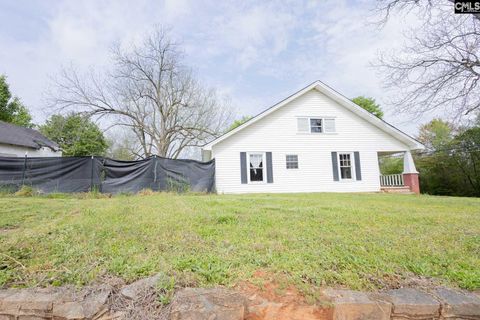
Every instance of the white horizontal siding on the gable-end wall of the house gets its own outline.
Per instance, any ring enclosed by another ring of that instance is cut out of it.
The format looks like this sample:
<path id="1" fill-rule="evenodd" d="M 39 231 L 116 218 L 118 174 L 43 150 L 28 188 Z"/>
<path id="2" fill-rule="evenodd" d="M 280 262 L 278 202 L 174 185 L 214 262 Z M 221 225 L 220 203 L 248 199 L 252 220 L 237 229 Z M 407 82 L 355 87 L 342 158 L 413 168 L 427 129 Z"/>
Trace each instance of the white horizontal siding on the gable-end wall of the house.
<path id="1" fill-rule="evenodd" d="M 297 132 L 297 117 L 335 118 L 336 133 Z M 378 151 L 409 148 L 317 90 L 311 90 L 212 148 L 219 193 L 379 191 Z M 273 183 L 241 184 L 240 152 L 272 152 Z M 359 151 L 362 180 L 333 181 L 331 152 Z M 299 169 L 286 169 L 297 154 Z"/>

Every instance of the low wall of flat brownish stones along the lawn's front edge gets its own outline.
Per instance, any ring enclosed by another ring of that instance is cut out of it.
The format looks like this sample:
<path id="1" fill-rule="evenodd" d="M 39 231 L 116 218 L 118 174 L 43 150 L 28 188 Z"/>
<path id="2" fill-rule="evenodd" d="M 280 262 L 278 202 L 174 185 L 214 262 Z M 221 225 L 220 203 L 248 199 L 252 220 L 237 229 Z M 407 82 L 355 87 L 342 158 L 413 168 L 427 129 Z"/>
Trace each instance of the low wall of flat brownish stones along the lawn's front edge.
<path id="1" fill-rule="evenodd" d="M 139 292 L 154 289 L 157 277 L 142 279 L 120 290 L 100 286 L 84 288 L 0 290 L 0 320 L 107 320 L 128 319 L 114 313 L 112 296 L 135 301 Z M 323 291 L 322 306 L 292 306 L 273 301 L 254 303 L 252 297 L 225 288 L 184 288 L 168 307 L 172 320 L 480 320 L 480 297 L 443 287 L 428 291 L 402 288 L 380 292 Z M 273 307 L 272 307 L 273 306 Z M 319 310 L 328 312 L 319 312 Z"/>

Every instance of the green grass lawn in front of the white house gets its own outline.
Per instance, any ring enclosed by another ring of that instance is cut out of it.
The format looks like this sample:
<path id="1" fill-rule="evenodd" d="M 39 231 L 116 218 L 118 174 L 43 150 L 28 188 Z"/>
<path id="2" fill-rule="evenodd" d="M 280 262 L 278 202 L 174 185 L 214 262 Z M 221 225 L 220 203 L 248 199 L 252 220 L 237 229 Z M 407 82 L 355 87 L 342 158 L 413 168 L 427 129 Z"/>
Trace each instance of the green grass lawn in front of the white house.
<path id="1" fill-rule="evenodd" d="M 412 276 L 480 288 L 480 199 L 388 194 L 0 197 L 0 287 L 156 272 L 301 290 Z M 399 280 L 400 279 L 400 280 Z"/>

